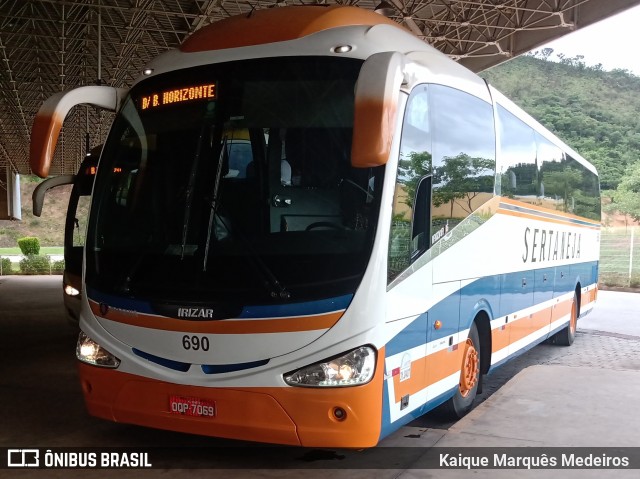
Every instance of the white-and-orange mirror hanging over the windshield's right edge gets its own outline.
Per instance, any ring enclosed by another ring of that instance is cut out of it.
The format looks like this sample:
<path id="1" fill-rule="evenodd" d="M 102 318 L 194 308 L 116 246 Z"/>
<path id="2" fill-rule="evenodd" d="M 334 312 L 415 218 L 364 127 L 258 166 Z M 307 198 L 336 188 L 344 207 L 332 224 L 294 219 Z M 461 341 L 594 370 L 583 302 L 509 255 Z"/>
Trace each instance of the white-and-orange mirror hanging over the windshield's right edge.
<path id="1" fill-rule="evenodd" d="M 362 65 L 355 92 L 351 165 L 370 168 L 389 160 L 395 133 L 404 55 L 371 55 Z"/>

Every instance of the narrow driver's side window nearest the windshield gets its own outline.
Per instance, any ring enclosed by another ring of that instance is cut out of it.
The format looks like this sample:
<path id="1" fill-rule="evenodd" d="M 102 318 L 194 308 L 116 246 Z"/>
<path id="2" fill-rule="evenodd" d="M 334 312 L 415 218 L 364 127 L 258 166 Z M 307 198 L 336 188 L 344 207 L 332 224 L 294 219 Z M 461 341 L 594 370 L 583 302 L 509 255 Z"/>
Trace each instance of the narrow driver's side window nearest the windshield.
<path id="1" fill-rule="evenodd" d="M 389 238 L 389 281 L 429 247 L 431 128 L 428 88 L 420 85 L 413 90 L 402 126 Z"/>

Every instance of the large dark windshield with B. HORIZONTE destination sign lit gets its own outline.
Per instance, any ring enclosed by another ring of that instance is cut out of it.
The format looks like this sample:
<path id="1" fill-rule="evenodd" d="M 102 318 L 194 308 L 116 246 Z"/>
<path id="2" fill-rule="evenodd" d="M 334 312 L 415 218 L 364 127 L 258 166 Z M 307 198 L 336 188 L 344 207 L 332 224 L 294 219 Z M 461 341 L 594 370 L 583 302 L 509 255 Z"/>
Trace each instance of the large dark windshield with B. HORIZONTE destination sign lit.
<path id="1" fill-rule="evenodd" d="M 255 304 L 354 293 L 384 169 L 350 163 L 361 64 L 246 60 L 136 85 L 100 160 L 89 294 Z"/>

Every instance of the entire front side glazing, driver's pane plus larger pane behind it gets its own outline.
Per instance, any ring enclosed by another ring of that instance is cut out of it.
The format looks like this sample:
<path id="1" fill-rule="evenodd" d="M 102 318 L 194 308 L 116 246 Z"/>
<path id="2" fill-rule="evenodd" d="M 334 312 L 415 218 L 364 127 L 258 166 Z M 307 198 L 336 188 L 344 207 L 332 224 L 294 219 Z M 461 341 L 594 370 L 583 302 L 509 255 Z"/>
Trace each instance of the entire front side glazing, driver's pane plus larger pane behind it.
<path id="1" fill-rule="evenodd" d="M 409 97 L 389 243 L 389 281 L 493 197 L 492 106 L 441 85 Z"/>

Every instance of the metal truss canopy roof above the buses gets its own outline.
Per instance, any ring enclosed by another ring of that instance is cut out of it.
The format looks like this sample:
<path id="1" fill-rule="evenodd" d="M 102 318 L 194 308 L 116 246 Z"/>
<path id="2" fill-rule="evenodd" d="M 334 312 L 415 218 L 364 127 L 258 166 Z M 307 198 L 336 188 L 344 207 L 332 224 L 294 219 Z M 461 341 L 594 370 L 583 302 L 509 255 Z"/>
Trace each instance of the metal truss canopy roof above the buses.
<path id="1" fill-rule="evenodd" d="M 376 10 L 481 71 L 640 0 L 0 0 L 0 171 L 31 173 L 31 125 L 51 94 L 96 83 L 128 87 L 149 60 L 209 23 L 310 2 Z M 93 108 L 74 109 L 51 174 L 74 173 L 87 131 L 89 145 L 98 145 L 110 121 Z"/>

